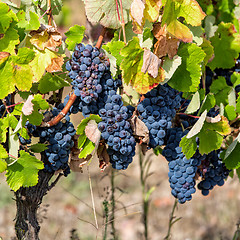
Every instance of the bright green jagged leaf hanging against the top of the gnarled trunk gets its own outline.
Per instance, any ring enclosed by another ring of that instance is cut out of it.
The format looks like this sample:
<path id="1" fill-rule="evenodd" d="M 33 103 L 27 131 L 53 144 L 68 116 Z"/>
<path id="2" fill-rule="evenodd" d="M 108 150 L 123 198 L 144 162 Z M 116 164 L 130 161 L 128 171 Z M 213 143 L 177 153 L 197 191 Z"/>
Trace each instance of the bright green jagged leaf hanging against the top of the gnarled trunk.
<path id="1" fill-rule="evenodd" d="M 20 158 L 7 168 L 7 183 L 13 191 L 20 187 L 35 186 L 38 183 L 38 171 L 43 168 L 40 160 L 21 150 Z"/>

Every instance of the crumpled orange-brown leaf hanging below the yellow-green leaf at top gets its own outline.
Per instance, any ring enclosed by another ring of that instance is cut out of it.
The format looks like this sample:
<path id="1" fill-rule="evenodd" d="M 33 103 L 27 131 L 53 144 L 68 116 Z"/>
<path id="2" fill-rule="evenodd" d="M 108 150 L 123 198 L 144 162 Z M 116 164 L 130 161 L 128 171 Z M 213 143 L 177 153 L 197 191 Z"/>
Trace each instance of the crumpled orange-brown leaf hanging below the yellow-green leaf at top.
<path id="1" fill-rule="evenodd" d="M 154 53 L 159 58 L 168 55 L 168 57 L 172 59 L 177 54 L 180 41 L 177 38 L 171 36 L 167 32 L 166 28 L 167 25 L 165 24 L 162 27 L 161 23 L 156 23 L 153 26 L 153 35 L 158 40 L 154 44 Z"/>

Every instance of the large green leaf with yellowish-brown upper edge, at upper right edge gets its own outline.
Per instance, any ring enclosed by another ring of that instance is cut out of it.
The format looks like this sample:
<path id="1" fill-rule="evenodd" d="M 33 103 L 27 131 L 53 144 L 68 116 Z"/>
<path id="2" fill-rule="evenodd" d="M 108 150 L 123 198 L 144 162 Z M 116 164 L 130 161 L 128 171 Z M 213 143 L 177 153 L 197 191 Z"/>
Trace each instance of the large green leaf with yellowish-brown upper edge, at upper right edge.
<path id="1" fill-rule="evenodd" d="M 214 37 L 210 40 L 214 47 L 214 59 L 208 66 L 212 70 L 235 66 L 235 59 L 238 58 L 240 52 L 240 35 L 236 32 L 234 25 L 221 22 Z"/>

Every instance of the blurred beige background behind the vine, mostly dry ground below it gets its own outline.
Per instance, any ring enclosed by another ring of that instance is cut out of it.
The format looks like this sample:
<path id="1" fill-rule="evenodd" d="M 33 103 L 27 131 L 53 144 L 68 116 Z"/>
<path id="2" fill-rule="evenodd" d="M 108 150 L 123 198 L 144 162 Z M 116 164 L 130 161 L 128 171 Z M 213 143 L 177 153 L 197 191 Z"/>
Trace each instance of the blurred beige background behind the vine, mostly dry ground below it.
<path id="1" fill-rule="evenodd" d="M 98 36 L 98 29 L 86 20 L 82 1 L 68 0 L 63 4 L 61 15 L 55 17 L 61 33 L 74 24 L 85 25 L 91 40 Z M 70 88 L 69 88 L 70 91 Z M 64 97 L 67 93 L 64 94 Z M 79 123 L 80 115 L 72 121 Z M 138 152 L 138 150 L 137 150 Z M 44 197 L 38 212 L 42 240 L 93 240 L 115 239 L 141 240 L 144 238 L 142 185 L 140 180 L 140 155 L 125 171 L 114 172 L 115 211 L 112 219 L 112 169 L 100 172 L 98 160 L 93 159 L 82 173 L 72 173 Z M 164 239 L 168 234 L 169 218 L 175 203 L 168 182 L 167 161 L 151 151 L 144 157 L 151 161 L 146 189 L 155 187 L 149 199 L 149 240 Z M 94 218 L 90 191 L 91 179 L 97 225 Z M 4 176 L 0 175 L 0 237 L 14 239 L 16 207 L 14 194 L 9 190 Z M 197 191 L 193 199 L 175 209 L 171 229 L 173 240 L 233 240 L 240 221 L 240 185 L 237 177 L 229 178 L 223 187 L 215 187 L 208 197 Z M 240 239 L 235 238 L 234 240 Z"/>

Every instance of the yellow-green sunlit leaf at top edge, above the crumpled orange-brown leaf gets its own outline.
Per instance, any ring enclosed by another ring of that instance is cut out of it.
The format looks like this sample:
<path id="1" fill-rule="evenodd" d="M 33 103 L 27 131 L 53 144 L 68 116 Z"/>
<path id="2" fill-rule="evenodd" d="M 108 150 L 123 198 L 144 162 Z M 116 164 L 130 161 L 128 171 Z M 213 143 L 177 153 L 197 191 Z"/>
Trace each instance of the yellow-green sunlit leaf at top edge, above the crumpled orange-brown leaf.
<path id="1" fill-rule="evenodd" d="M 192 42 L 190 29 L 179 22 L 178 18 L 184 17 L 187 24 L 199 26 L 205 16 L 196 0 L 168 0 L 164 7 L 162 26 L 167 24 L 167 31 L 173 36 L 184 42 Z"/>

